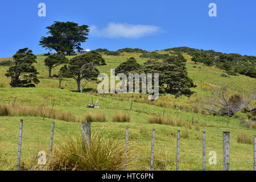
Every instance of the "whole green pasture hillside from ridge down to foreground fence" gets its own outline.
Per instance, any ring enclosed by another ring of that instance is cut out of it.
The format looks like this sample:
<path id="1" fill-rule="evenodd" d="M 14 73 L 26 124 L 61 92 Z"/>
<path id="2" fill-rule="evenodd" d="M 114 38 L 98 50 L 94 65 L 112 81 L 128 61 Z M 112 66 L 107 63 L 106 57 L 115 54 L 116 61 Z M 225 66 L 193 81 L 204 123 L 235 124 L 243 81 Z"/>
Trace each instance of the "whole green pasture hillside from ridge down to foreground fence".
<path id="1" fill-rule="evenodd" d="M 161 55 L 173 50 L 155 51 Z M 98 67 L 100 73 L 110 73 L 110 69 L 116 68 L 129 57 L 135 57 L 139 64 L 148 60 L 142 57 L 143 52 L 121 52 L 118 56 L 103 54 L 106 65 Z M 249 95 L 256 90 L 256 80 L 253 77 L 237 75 L 222 77 L 224 70 L 215 67 L 207 67 L 203 63 L 195 64 L 191 61 L 189 52 L 182 52 L 187 59 L 188 76 L 196 83 L 197 87 L 192 90 L 196 93 L 190 98 L 182 96 L 175 98 L 170 94 L 162 95 L 158 101 L 148 103 L 144 94 L 97 94 L 97 83 L 91 82 L 87 86 L 89 92 L 77 93 L 76 83 L 71 78 L 65 78 L 59 89 L 58 78 L 49 78 L 47 69 L 44 67 L 43 55 L 37 55 L 36 69 L 39 72 L 40 83 L 36 88 L 10 88 L 9 78 L 5 76 L 8 67 L 0 66 L 0 99 L 2 104 L 27 105 L 42 109 L 42 105 L 54 107 L 61 111 L 69 111 L 72 114 L 82 116 L 91 111 L 98 113 L 104 111 L 107 122 L 93 122 L 92 133 L 103 130 L 109 138 L 115 138 L 125 143 L 125 127 L 130 129 L 129 146 L 133 148 L 133 162 L 129 163 L 129 170 L 148 170 L 150 162 L 151 130 L 156 130 L 155 143 L 155 170 L 176 169 L 176 135 L 181 130 L 180 143 L 180 170 L 201 170 L 202 160 L 202 131 L 206 131 L 206 158 L 207 170 L 222 169 L 222 131 L 230 131 L 230 168 L 232 170 L 253 169 L 253 145 L 238 143 L 237 135 L 247 134 L 253 139 L 255 129 L 241 123 L 238 118 L 210 115 L 196 106 L 202 98 L 212 94 L 213 88 L 226 86 L 230 93 Z M 175 54 L 174 54 L 175 55 Z M 73 56 L 68 56 L 70 59 Z M 0 59 L 0 61 L 9 60 Z M 52 75 L 57 74 L 60 67 L 53 69 Z M 52 106 L 52 100 L 54 105 Z M 86 108 L 87 104 L 99 99 L 100 109 Z M 133 105 L 131 107 L 131 101 Z M 175 109 L 176 105 L 180 110 Z M 255 102 L 251 106 L 256 105 Z M 118 112 L 129 113 L 130 123 L 112 122 L 112 116 Z M 166 117 L 180 118 L 184 122 L 192 123 L 191 128 L 158 125 L 147 122 L 151 114 L 165 113 Z M 23 167 L 30 169 L 35 163 L 35 155 L 38 151 L 48 151 L 49 131 L 51 122 L 55 121 L 55 142 L 68 135 L 81 135 L 81 123 L 66 122 L 54 118 L 42 118 L 26 116 L 0 117 L 0 169 L 15 169 L 16 150 L 19 133 L 19 119 L 24 119 L 23 141 Z M 40 138 L 40 139 L 38 139 Z M 54 145 L 55 146 L 55 145 Z M 210 165 L 209 152 L 217 152 L 217 165 Z M 2 165 L 1 165 L 2 164 Z M 6 165 L 3 165 L 6 164 Z"/>

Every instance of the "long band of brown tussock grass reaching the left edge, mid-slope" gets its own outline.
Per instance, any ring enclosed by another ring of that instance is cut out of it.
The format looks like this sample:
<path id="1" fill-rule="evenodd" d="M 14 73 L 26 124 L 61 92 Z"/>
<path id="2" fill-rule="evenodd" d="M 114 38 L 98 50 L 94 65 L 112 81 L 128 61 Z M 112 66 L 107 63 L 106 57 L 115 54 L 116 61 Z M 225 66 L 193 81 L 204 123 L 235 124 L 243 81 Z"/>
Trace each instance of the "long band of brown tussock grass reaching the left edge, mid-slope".
<path id="1" fill-rule="evenodd" d="M 68 122 L 82 122 L 83 118 L 78 117 L 68 111 L 60 111 L 47 106 L 22 106 L 16 104 L 0 105 L 0 116 L 22 116 L 42 117 L 49 119 L 59 119 Z"/>

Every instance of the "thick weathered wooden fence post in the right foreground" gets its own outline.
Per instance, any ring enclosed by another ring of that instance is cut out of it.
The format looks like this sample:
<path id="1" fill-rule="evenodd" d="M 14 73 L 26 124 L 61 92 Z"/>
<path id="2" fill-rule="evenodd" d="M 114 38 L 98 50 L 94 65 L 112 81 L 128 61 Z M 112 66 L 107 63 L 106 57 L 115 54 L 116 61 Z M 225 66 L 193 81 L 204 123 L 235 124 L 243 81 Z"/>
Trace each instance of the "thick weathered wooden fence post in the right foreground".
<path id="1" fill-rule="evenodd" d="M 229 171 L 229 149 L 230 149 L 230 133 L 228 131 L 223 132 L 223 171 Z"/>

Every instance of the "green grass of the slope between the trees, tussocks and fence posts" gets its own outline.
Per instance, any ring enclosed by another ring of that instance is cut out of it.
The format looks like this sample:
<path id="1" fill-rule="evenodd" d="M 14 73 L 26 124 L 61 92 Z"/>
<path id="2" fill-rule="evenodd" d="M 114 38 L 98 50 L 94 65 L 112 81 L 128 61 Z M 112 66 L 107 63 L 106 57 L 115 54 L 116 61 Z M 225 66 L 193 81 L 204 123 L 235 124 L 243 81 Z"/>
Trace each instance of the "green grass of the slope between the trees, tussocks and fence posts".
<path id="1" fill-rule="evenodd" d="M 138 59 L 139 63 L 146 61 L 145 59 L 139 59 L 139 54 L 136 53 L 123 53 L 122 56 L 104 56 L 106 63 L 104 67 L 100 67 L 101 73 L 109 73 L 110 68 L 115 68 L 122 61 L 125 61 L 127 57 L 134 56 Z M 188 59 L 189 57 L 186 56 Z M 41 83 L 37 88 L 10 88 L 9 80 L 4 76 L 6 67 L 0 67 L 0 85 L 5 86 L 5 88 L 0 88 L 1 102 L 7 104 L 12 102 L 14 97 L 17 97 L 16 103 L 25 105 L 36 105 L 44 104 L 46 105 L 48 99 L 48 105 L 50 105 L 52 98 L 55 98 L 55 107 L 61 110 L 68 110 L 77 115 L 86 113 L 87 111 L 97 112 L 95 109 L 87 109 L 86 104 L 91 102 L 93 98 L 96 101 L 100 98 L 100 110 L 104 110 L 107 115 L 108 122 L 106 123 L 92 123 L 92 132 L 101 130 L 104 128 L 104 133 L 108 133 L 109 137 L 115 137 L 117 139 L 123 140 L 125 136 L 125 127 L 130 127 L 130 146 L 134 147 L 136 153 L 138 154 L 137 160 L 134 164 L 131 164 L 129 169 L 148 169 L 148 158 L 150 156 L 150 137 L 151 129 L 156 129 L 156 153 L 155 161 L 156 169 L 175 169 L 175 145 L 176 145 L 176 131 L 181 130 L 181 156 L 180 156 L 180 169 L 201 169 L 201 131 L 207 132 L 207 161 L 209 159 L 208 152 L 217 152 L 217 165 L 209 165 L 207 163 L 208 169 L 221 169 L 222 167 L 222 131 L 230 131 L 231 133 L 231 168 L 232 169 L 252 169 L 253 167 L 253 146 L 249 144 L 240 144 L 236 142 L 238 133 L 248 133 L 254 135 L 255 131 L 253 129 L 245 129 L 238 126 L 238 121 L 234 119 L 227 128 L 226 117 L 213 117 L 210 115 L 200 115 L 195 113 L 185 113 L 172 109 L 166 109 L 166 115 L 179 114 L 178 117 L 184 118 L 185 121 L 191 122 L 192 117 L 200 117 L 201 128 L 200 131 L 195 130 L 195 126 L 192 130 L 188 130 L 189 138 L 184 138 L 185 133 L 184 127 L 173 127 L 164 125 L 152 125 L 147 123 L 148 117 L 148 107 L 150 113 L 155 110 L 158 114 L 163 111 L 163 107 L 158 106 L 148 106 L 143 104 L 136 104 L 133 106 L 133 110 L 130 111 L 130 102 L 126 101 L 125 106 L 123 102 L 119 103 L 113 97 L 95 97 L 88 94 L 79 94 L 76 92 L 70 92 L 69 90 L 76 90 L 76 85 L 73 80 L 66 79 L 63 82 L 64 90 L 57 89 L 58 80 L 55 78 L 47 78 L 47 71 L 43 67 L 43 56 L 38 56 L 37 68 L 40 72 L 39 78 Z M 188 61 L 189 63 L 189 61 Z M 220 77 L 222 71 L 215 68 L 204 67 L 203 65 L 196 65 L 197 68 L 193 68 L 194 64 L 187 64 L 189 76 L 198 85 L 195 88 L 197 92 L 191 98 L 181 97 L 175 99 L 172 96 L 162 96 L 160 100 L 166 102 L 177 103 L 181 105 L 188 105 L 193 102 L 196 98 L 200 98 L 205 94 L 210 93 L 210 89 L 213 86 L 221 86 L 225 84 L 230 90 L 241 92 L 245 94 L 249 90 L 252 90 L 256 86 L 256 81 L 253 78 L 245 76 L 231 76 L 230 78 Z M 199 68 L 201 67 L 201 68 Z M 58 68 L 53 71 L 53 74 L 57 73 Z M 95 87 L 96 84 L 90 84 L 89 87 Z M 28 100 L 31 100 L 28 102 Z M 60 100 L 60 105 L 59 105 Z M 67 100 L 67 105 L 65 105 L 65 100 Z M 73 105 L 74 100 L 74 105 Z M 80 100 L 81 105 L 80 106 Z M 144 110 L 143 110 L 144 107 Z M 138 108 L 138 109 L 137 109 Z M 112 115 L 117 111 L 129 112 L 132 117 L 131 123 L 113 123 Z M 32 158 L 35 153 L 40 150 L 47 151 L 48 138 L 51 124 L 50 122 L 54 119 L 47 118 L 33 118 L 33 117 L 22 117 L 24 119 L 24 139 L 23 139 L 23 150 L 32 151 L 23 153 L 24 164 L 31 163 L 30 158 Z M 0 163 L 11 162 L 13 167 L 16 161 L 16 149 L 17 149 L 17 139 L 18 139 L 18 128 L 19 128 L 20 117 L 0 117 Z M 60 141 L 62 137 L 72 134 L 80 135 L 81 124 L 80 123 L 68 123 L 64 121 L 55 121 L 55 144 Z M 234 123 L 233 123 L 234 122 Z M 206 124 L 204 124 L 206 123 Z M 9 137 L 11 136 L 11 137 Z M 26 138 L 27 137 L 27 138 Z M 35 138 L 40 137 L 40 138 Z M 3 150 L 11 150 L 9 152 Z M 1 160 L 1 155 L 7 160 Z M 171 159 L 167 161 L 166 159 Z M 161 168 L 161 166 L 165 166 Z M 1 169 L 10 169 L 10 166 L 0 166 Z M 24 166 L 26 168 L 26 166 Z"/>

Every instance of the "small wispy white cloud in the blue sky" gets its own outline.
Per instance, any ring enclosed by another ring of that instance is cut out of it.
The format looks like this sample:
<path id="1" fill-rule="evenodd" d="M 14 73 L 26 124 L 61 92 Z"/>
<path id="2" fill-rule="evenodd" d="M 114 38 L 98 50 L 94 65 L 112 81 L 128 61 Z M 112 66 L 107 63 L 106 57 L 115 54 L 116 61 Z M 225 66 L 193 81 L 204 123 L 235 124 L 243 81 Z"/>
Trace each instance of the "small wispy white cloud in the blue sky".
<path id="1" fill-rule="evenodd" d="M 92 36 L 104 38 L 130 38 L 137 39 L 159 32 L 160 27 L 143 24 L 109 23 L 107 27 L 99 29 L 96 26 L 90 27 Z"/>

